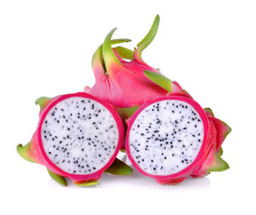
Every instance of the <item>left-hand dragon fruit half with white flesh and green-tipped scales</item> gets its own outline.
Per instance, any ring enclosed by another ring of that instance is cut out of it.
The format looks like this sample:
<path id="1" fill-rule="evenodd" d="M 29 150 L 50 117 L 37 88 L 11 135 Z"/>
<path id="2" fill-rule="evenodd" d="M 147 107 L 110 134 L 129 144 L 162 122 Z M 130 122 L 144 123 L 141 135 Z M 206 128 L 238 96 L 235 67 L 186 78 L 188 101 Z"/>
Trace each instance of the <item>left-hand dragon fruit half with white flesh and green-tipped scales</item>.
<path id="1" fill-rule="evenodd" d="M 131 167 L 116 158 L 124 127 L 112 105 L 88 93 L 42 97 L 36 104 L 41 106 L 38 127 L 30 143 L 17 146 L 20 156 L 43 164 L 62 185 L 66 178 L 95 185 L 104 171 L 131 174 Z"/>

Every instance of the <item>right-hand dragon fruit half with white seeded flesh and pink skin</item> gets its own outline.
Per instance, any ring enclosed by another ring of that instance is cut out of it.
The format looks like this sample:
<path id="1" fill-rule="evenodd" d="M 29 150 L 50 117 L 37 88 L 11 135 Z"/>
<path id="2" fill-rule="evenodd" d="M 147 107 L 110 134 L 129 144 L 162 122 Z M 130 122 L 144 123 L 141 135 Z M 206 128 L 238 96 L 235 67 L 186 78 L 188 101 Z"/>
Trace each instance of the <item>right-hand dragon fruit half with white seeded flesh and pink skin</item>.
<path id="1" fill-rule="evenodd" d="M 127 124 L 131 163 L 159 184 L 178 184 L 189 176 L 229 168 L 221 158 L 221 144 L 231 128 L 183 90 L 146 101 Z"/>

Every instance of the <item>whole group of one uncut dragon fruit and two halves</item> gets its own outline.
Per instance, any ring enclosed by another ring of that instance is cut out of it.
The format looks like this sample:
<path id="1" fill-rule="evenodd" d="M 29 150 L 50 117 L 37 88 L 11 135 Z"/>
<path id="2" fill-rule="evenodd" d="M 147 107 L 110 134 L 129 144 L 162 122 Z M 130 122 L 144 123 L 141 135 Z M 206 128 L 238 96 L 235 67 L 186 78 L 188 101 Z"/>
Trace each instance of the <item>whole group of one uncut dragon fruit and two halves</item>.
<path id="1" fill-rule="evenodd" d="M 38 127 L 30 143 L 17 146 L 20 156 L 43 164 L 62 185 L 66 178 L 95 185 L 104 172 L 131 175 L 131 167 L 116 157 L 119 150 L 159 184 L 228 169 L 221 145 L 231 128 L 142 59 L 159 21 L 156 16 L 134 51 L 112 48 L 130 40 L 111 40 L 115 29 L 110 31 L 92 58 L 92 88 L 37 99 Z"/>

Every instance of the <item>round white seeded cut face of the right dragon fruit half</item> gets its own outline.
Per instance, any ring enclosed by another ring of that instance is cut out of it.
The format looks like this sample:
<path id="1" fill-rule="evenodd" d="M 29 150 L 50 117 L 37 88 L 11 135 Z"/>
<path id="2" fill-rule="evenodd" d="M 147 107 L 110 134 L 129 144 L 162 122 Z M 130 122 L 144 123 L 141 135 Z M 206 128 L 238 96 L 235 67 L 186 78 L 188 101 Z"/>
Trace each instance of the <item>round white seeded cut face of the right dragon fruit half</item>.
<path id="1" fill-rule="evenodd" d="M 207 116 L 201 106 L 179 96 L 144 104 L 128 125 L 128 156 L 135 167 L 152 176 L 192 167 L 207 140 Z"/>

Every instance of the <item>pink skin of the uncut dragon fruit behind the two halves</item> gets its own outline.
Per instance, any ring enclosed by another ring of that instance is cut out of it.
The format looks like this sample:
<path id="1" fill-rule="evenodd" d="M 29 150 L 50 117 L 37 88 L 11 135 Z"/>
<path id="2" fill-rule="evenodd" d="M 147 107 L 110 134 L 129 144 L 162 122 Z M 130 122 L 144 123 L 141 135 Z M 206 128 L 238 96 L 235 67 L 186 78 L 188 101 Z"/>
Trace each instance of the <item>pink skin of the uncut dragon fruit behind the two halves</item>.
<path id="1" fill-rule="evenodd" d="M 168 93 L 143 74 L 143 71 L 159 71 L 136 59 L 127 62 L 118 54 L 116 56 L 121 66 L 113 62 L 109 74 L 104 73 L 101 62 L 94 65 L 96 84 L 92 88 L 84 88 L 84 92 L 120 108 L 142 105 L 145 100 L 157 99 Z M 180 89 L 177 82 L 172 82 L 174 92 Z"/>

